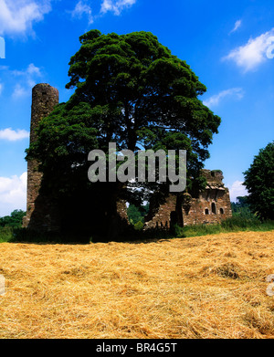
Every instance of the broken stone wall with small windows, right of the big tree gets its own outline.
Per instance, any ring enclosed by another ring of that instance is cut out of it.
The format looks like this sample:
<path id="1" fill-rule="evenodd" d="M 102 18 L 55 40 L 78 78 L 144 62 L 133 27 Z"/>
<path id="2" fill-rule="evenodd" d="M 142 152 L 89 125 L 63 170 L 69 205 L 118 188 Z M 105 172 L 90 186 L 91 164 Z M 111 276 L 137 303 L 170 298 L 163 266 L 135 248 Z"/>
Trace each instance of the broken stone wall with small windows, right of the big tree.
<path id="1" fill-rule="evenodd" d="M 163 205 L 160 205 L 153 216 L 148 215 L 145 228 L 169 228 L 175 217 L 176 223 L 181 224 L 183 215 L 184 226 L 215 224 L 232 215 L 229 191 L 224 186 L 223 173 L 220 171 L 203 170 L 207 185 L 205 191 L 193 198 L 188 194 L 188 204 L 178 207 L 175 194 L 167 195 Z M 178 212 L 180 210 L 180 212 Z"/>

